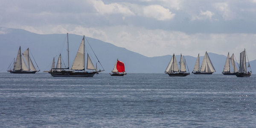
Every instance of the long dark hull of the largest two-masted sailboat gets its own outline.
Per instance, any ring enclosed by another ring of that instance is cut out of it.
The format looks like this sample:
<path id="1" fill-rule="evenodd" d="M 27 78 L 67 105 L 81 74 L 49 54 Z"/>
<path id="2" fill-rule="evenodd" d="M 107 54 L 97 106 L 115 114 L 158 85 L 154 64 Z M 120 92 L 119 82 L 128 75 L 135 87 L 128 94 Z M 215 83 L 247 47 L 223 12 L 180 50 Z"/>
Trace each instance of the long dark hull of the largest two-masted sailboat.
<path id="1" fill-rule="evenodd" d="M 73 72 L 73 71 L 61 71 L 61 72 L 48 72 L 54 77 L 93 77 L 98 72 Z"/>

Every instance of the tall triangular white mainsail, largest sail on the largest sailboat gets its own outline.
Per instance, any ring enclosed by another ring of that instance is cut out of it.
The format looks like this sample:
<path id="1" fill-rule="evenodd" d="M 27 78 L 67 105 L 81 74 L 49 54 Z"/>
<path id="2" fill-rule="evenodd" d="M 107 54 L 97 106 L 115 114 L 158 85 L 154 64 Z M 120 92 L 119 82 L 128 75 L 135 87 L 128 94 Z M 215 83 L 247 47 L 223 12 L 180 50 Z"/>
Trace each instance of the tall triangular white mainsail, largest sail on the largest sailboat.
<path id="1" fill-rule="evenodd" d="M 72 66 L 72 70 L 84 70 L 84 38 L 81 41 L 76 58 Z"/>

